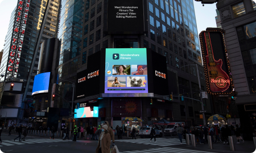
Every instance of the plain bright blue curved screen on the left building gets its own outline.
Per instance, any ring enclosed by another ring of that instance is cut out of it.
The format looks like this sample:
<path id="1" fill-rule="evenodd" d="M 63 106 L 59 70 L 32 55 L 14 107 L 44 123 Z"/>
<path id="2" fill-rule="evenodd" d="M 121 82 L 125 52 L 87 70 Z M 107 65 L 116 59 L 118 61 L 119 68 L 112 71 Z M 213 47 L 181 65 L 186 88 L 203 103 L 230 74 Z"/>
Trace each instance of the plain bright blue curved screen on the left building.
<path id="1" fill-rule="evenodd" d="M 51 73 L 41 73 L 35 76 L 32 95 L 48 92 Z"/>

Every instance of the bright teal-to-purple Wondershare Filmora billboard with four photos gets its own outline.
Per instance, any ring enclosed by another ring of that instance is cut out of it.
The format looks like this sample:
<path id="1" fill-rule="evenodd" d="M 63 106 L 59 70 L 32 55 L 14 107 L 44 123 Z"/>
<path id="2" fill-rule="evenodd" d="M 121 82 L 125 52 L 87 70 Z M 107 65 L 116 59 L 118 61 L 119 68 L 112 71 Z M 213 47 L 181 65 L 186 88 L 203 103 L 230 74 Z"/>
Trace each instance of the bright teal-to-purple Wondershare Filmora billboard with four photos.
<path id="1" fill-rule="evenodd" d="M 148 93 L 146 48 L 106 48 L 105 93 Z"/>

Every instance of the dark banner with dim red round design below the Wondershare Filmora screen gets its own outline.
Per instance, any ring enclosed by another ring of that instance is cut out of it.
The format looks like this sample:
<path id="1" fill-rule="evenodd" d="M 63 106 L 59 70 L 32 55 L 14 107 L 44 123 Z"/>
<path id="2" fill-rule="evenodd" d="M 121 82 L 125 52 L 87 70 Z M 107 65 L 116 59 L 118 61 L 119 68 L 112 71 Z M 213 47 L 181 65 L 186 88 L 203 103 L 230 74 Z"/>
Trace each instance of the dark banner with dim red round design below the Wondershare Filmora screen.
<path id="1" fill-rule="evenodd" d="M 113 117 L 140 117 L 141 100 L 140 99 L 113 99 L 112 100 Z"/>

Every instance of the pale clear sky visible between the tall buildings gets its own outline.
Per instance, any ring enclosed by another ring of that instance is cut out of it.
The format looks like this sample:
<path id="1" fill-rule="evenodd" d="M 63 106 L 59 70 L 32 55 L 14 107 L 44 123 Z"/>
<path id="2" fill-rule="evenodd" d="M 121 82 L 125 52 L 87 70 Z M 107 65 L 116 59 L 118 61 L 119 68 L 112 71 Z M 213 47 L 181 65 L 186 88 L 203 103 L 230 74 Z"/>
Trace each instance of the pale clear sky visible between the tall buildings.
<path id="1" fill-rule="evenodd" d="M 0 3 L 0 50 L 3 49 L 3 44 L 5 44 L 5 36 L 7 34 L 8 25 L 10 22 L 11 12 L 14 10 L 18 0 L 3 0 Z M 188 0 L 185 0 L 188 1 Z M 211 5 L 203 6 L 201 2 L 194 2 L 197 31 L 200 33 L 204 31 L 207 27 L 217 27 L 215 22 L 216 16 L 216 3 Z"/>

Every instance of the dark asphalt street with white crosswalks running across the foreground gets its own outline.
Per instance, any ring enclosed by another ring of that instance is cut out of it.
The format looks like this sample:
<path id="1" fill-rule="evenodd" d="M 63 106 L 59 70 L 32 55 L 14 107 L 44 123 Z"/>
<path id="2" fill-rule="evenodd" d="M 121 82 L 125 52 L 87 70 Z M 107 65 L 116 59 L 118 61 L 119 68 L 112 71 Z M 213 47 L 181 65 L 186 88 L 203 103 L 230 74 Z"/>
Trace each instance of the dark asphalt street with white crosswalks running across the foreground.
<path id="1" fill-rule="evenodd" d="M 28 135 L 26 141 L 19 142 L 18 139 L 14 142 L 17 134 L 2 133 L 2 144 L 0 150 L 2 152 L 95 152 L 98 141 L 91 140 L 77 140 L 73 142 L 71 140 L 63 141 L 60 138 L 49 139 L 48 137 L 35 137 Z M 116 137 L 117 138 L 117 137 Z M 156 138 L 156 142 L 150 142 L 149 138 L 137 138 L 135 139 L 117 139 L 115 140 L 120 153 L 132 153 L 132 152 L 191 152 L 191 153 L 208 153 L 208 152 L 253 152 L 255 150 L 253 142 L 245 142 L 235 144 L 235 148 L 238 151 L 229 151 L 229 145 L 223 145 L 223 143 L 214 143 L 213 150 L 208 149 L 208 144 L 197 145 L 192 147 L 191 145 L 179 144 L 177 136 Z"/>

